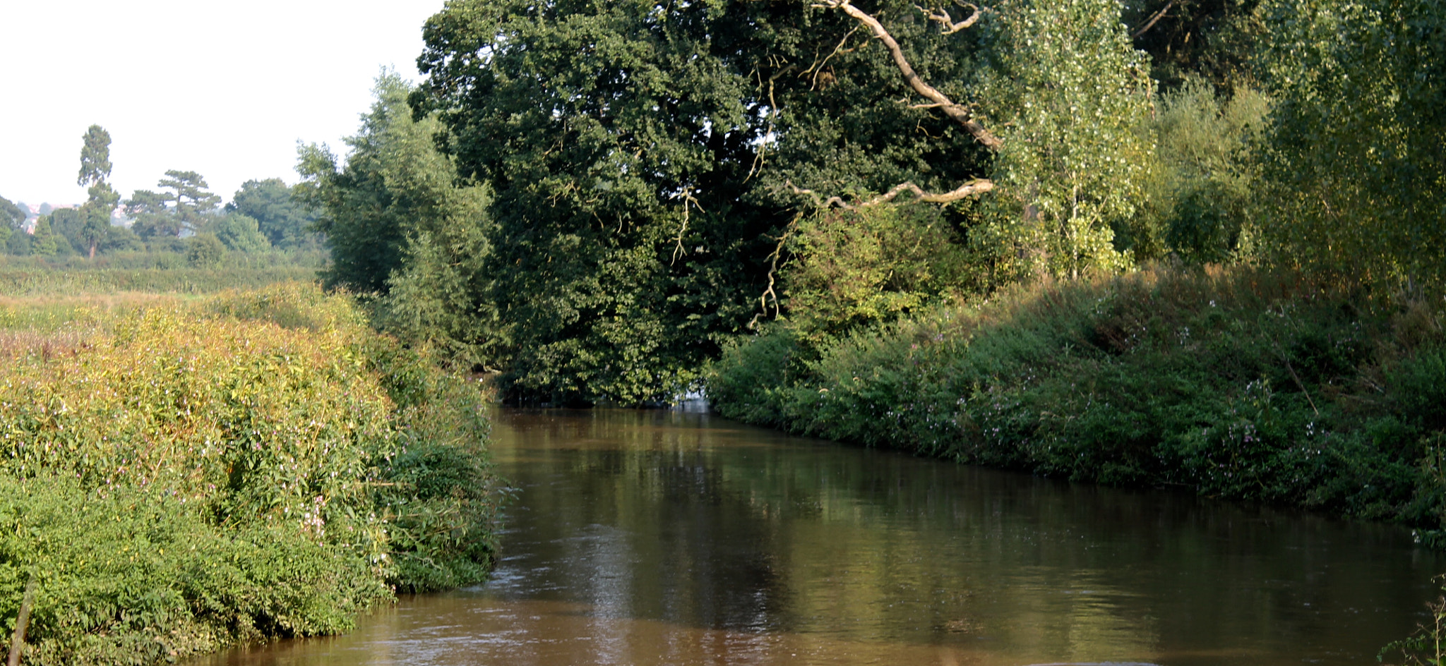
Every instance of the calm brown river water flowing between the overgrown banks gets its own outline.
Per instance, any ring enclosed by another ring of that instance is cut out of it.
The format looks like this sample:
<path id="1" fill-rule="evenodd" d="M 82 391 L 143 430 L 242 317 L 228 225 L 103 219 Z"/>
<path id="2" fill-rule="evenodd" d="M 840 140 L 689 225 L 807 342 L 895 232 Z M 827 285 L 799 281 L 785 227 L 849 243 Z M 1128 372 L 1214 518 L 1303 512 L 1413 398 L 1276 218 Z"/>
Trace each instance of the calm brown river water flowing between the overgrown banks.
<path id="1" fill-rule="evenodd" d="M 790 438 L 502 410 L 487 585 L 202 665 L 1374 663 L 1446 558 L 1408 532 Z"/>

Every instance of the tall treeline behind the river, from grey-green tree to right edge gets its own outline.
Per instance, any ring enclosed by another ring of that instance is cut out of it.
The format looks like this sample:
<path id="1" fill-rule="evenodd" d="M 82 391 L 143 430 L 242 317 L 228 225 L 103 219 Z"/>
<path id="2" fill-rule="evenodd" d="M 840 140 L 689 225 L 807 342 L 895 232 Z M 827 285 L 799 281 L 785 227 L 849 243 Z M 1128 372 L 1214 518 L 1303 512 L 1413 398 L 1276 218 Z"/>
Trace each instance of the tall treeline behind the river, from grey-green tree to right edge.
<path id="1" fill-rule="evenodd" d="M 509 400 L 642 405 L 1043 277 L 1443 277 L 1434 4 L 972 7 L 453 3 L 304 150 L 327 280 Z"/>

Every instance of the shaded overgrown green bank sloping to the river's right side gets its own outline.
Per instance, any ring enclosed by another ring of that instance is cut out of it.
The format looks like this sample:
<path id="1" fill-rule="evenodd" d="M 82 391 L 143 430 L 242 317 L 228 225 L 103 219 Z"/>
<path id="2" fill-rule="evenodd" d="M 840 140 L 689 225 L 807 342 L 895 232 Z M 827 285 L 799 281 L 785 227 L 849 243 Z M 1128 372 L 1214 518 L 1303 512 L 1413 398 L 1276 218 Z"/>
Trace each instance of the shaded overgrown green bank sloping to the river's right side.
<path id="1" fill-rule="evenodd" d="M 820 344 L 779 325 L 709 396 L 846 442 L 1443 527 L 1440 299 L 1245 269 L 1045 283 Z"/>

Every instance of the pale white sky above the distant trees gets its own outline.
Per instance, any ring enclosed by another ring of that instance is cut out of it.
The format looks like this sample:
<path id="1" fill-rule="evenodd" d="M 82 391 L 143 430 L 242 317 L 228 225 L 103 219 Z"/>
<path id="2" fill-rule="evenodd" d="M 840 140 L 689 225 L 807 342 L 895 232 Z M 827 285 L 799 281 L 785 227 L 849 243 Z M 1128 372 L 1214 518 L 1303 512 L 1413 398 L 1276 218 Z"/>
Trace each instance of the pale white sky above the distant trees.
<path id="1" fill-rule="evenodd" d="M 110 131 L 111 186 L 194 170 L 230 201 L 298 181 L 296 142 L 344 153 L 383 68 L 416 81 L 442 0 L 0 1 L 0 196 L 81 204 L 81 136 Z"/>

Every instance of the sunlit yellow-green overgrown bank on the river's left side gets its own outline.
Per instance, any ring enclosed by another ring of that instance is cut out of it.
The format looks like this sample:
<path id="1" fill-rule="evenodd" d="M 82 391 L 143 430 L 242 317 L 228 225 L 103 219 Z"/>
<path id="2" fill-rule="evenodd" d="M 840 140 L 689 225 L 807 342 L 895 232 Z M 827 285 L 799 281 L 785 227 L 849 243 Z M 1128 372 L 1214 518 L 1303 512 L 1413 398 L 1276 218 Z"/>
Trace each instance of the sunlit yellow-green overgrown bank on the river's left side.
<path id="1" fill-rule="evenodd" d="M 344 296 L 0 303 L 0 618 L 25 663 L 347 630 L 492 561 L 477 392 Z"/>

